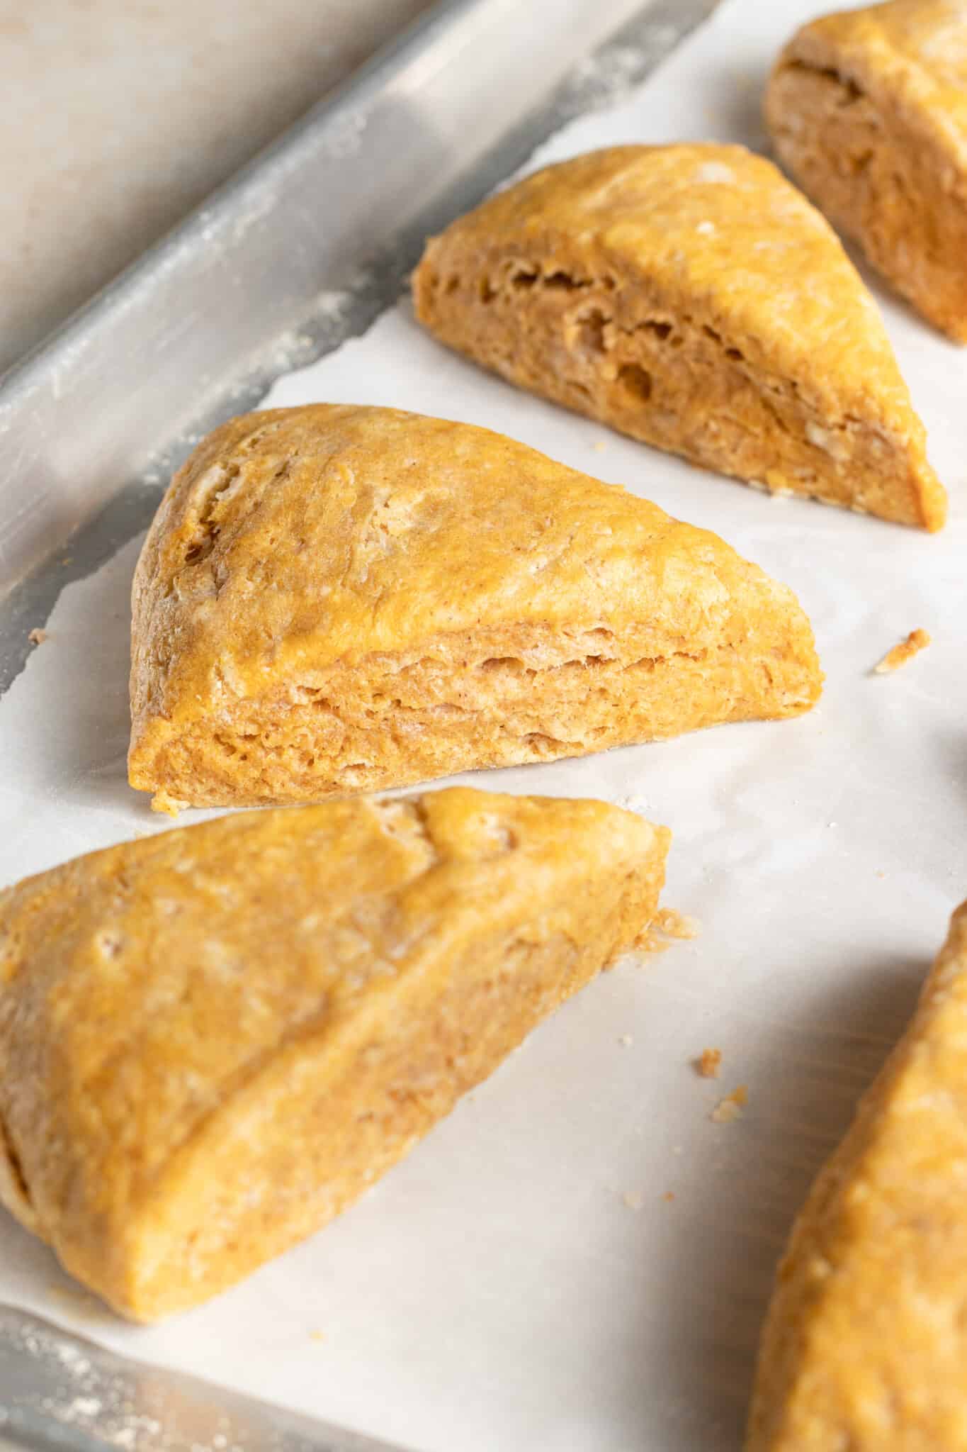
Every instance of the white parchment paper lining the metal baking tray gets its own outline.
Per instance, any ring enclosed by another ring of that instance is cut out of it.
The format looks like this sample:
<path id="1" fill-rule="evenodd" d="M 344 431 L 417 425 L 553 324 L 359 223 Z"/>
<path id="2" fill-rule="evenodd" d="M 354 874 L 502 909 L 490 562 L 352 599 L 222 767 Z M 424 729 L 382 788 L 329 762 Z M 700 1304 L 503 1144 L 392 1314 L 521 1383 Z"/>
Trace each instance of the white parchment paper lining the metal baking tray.
<path id="1" fill-rule="evenodd" d="M 764 145 L 765 70 L 813 6 L 725 3 L 535 163 L 616 141 Z M 213 1305 L 126 1327 L 7 1218 L 0 1298 L 420 1452 L 738 1448 L 792 1215 L 967 894 L 967 351 L 876 292 L 951 491 L 937 537 L 622 440 L 448 354 L 406 303 L 278 383 L 273 405 L 486 424 L 719 531 L 799 592 L 825 697 L 796 722 L 473 778 L 668 823 L 665 902 L 700 938 L 603 976 L 355 1208 Z M 65 590 L 0 707 L 3 881 L 168 825 L 125 780 L 138 546 Z M 931 649 L 873 677 L 918 626 Z M 718 1083 L 690 1067 L 706 1045 Z M 712 1122 L 739 1082 L 744 1118 Z"/>

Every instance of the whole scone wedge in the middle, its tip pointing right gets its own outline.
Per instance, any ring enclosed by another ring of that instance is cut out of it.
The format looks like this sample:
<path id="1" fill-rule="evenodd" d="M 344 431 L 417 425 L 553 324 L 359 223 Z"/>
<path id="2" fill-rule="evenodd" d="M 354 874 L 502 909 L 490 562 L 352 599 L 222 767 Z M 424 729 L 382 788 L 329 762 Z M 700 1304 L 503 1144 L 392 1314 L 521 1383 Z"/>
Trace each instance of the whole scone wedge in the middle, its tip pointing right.
<path id="1" fill-rule="evenodd" d="M 793 594 L 715 534 L 484 428 L 316 405 L 174 479 L 133 585 L 130 783 L 318 800 L 794 716 Z"/>

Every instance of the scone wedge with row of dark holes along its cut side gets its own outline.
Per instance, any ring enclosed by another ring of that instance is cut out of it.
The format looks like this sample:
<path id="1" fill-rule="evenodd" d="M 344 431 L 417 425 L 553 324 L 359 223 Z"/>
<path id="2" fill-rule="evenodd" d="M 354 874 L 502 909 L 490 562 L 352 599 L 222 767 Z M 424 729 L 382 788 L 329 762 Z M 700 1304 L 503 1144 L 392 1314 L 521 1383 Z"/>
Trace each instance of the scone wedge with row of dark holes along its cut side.
<path id="1" fill-rule="evenodd" d="M 935 530 L 945 492 L 828 222 L 742 147 L 615 147 L 433 238 L 416 315 L 520 388 L 710 469 Z"/>

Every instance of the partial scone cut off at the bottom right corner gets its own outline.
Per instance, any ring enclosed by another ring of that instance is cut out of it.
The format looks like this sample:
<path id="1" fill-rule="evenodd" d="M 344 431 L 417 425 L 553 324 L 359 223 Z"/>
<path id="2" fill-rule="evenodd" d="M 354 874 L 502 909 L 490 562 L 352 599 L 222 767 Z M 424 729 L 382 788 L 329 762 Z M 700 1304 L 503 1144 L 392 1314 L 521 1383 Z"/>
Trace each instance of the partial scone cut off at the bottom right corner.
<path id="1" fill-rule="evenodd" d="M 967 1449 L 967 903 L 779 1272 L 747 1452 Z"/>

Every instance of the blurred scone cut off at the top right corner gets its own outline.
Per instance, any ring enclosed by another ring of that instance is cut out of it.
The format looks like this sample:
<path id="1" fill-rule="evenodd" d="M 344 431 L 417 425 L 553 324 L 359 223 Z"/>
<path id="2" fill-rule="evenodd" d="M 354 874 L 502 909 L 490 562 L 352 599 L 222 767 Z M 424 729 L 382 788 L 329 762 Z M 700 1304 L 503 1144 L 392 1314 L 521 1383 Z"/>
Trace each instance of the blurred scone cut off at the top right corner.
<path id="1" fill-rule="evenodd" d="M 892 0 L 805 26 L 773 73 L 779 155 L 925 318 L 967 343 L 967 4 Z"/>

